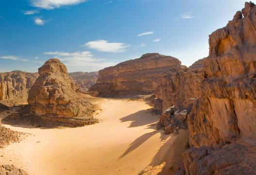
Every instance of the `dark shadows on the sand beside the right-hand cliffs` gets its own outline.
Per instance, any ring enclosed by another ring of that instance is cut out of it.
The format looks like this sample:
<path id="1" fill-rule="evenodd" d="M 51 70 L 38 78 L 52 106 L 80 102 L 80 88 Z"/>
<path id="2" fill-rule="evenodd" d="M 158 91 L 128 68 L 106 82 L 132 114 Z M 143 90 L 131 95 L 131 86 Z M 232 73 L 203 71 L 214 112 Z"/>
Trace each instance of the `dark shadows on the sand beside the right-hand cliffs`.
<path id="1" fill-rule="evenodd" d="M 148 110 L 138 111 L 129 116 L 122 117 L 120 120 L 121 122 L 131 121 L 128 128 L 147 125 L 146 129 L 154 129 L 155 131 L 145 133 L 135 139 L 118 160 L 124 158 L 133 150 L 137 149 L 155 134 L 160 133 L 160 141 L 163 145 L 160 147 L 151 163 L 145 168 L 144 174 L 172 175 L 178 171 L 182 154 L 186 150 L 188 142 L 187 130 L 180 130 L 178 134 L 169 135 L 165 135 L 163 131 L 156 131 L 156 122 L 159 121 L 159 118 L 149 113 Z"/>

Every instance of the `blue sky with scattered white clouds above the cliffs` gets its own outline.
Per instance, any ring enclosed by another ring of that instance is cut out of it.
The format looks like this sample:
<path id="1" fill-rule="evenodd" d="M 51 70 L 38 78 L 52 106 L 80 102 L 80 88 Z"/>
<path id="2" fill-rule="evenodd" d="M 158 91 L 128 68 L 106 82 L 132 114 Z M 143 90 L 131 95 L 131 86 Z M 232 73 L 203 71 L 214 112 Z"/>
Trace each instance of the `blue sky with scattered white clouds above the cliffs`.
<path id="1" fill-rule="evenodd" d="M 49 58 L 91 72 L 153 52 L 190 66 L 208 56 L 208 35 L 244 2 L 1 0 L 0 72 L 37 72 Z"/>

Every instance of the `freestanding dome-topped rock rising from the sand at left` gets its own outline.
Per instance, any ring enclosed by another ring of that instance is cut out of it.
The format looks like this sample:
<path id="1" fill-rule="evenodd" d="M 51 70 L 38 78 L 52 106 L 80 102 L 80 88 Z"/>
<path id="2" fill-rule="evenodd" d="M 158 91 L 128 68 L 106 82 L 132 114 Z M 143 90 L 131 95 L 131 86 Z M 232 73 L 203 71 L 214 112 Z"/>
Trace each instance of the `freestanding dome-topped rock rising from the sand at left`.
<path id="1" fill-rule="evenodd" d="M 93 118 L 95 106 L 78 97 L 79 87 L 60 60 L 49 59 L 38 72 L 28 98 L 32 115 L 77 125 L 97 122 Z"/>

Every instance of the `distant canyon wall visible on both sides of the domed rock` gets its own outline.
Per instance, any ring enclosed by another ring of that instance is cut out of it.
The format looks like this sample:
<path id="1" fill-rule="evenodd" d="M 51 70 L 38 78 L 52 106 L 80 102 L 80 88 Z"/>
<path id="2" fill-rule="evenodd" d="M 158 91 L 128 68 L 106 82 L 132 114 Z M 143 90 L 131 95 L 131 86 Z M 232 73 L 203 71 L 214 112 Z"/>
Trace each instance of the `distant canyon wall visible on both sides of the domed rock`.
<path id="1" fill-rule="evenodd" d="M 68 73 L 78 84 L 82 92 L 86 92 L 96 83 L 98 73 Z M 0 73 L 0 103 L 8 106 L 27 103 L 28 92 L 33 86 L 38 73 L 12 71 Z"/>

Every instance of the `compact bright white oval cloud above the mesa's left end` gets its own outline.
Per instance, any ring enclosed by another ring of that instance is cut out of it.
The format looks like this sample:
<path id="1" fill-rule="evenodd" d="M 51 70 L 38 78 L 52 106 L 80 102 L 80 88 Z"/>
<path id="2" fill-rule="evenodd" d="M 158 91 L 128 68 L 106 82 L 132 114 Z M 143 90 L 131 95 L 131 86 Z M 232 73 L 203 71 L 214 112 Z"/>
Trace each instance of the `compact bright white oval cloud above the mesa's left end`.
<path id="1" fill-rule="evenodd" d="M 100 52 L 112 52 L 112 53 L 119 53 L 124 52 L 130 46 L 129 44 L 125 43 L 109 43 L 106 40 L 96 40 L 88 42 L 82 46 L 87 46 L 91 49 L 95 49 Z"/>

